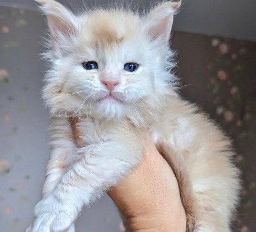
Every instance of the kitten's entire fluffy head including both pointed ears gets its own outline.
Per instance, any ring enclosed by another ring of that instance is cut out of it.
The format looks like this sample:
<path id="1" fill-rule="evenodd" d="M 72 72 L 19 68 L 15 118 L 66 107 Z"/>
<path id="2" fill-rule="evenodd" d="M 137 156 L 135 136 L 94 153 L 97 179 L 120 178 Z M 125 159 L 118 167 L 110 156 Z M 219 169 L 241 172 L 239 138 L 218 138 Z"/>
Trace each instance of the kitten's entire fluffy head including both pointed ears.
<path id="1" fill-rule="evenodd" d="M 143 15 L 126 9 L 74 15 L 54 0 L 37 2 L 50 29 L 44 97 L 52 113 L 138 123 L 175 94 L 169 36 L 180 3 Z"/>

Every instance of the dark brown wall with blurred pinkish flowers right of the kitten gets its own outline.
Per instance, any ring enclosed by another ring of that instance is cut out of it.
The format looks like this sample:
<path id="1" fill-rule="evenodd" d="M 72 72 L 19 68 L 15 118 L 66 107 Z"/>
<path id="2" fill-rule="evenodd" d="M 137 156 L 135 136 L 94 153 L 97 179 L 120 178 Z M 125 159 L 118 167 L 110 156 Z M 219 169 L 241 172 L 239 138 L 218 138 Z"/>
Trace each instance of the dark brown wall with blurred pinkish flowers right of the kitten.
<path id="1" fill-rule="evenodd" d="M 174 32 L 181 92 L 233 140 L 241 203 L 233 231 L 256 231 L 256 43 Z"/>

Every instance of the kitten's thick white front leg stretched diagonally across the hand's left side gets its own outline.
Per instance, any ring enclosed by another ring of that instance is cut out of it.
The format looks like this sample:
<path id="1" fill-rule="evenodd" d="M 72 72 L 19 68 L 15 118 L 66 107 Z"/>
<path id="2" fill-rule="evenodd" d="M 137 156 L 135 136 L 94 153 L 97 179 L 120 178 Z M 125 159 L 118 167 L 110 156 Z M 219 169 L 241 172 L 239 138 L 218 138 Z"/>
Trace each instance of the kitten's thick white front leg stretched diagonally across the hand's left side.
<path id="1" fill-rule="evenodd" d="M 65 231 L 84 204 L 95 201 L 129 173 L 141 159 L 143 148 L 141 140 L 133 139 L 133 143 L 127 138 L 129 135 L 123 141 L 100 141 L 81 148 L 83 157 L 35 207 L 36 220 L 31 231 Z"/>

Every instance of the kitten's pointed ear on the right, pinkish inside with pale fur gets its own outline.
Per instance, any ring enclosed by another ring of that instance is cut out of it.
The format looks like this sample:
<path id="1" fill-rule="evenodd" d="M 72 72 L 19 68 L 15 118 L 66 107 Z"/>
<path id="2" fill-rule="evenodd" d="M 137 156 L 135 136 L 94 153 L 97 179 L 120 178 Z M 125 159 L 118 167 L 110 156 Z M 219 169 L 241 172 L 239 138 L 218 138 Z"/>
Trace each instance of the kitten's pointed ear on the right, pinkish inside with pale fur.
<path id="1" fill-rule="evenodd" d="M 173 17 L 180 5 L 181 1 L 160 3 L 146 15 L 145 29 L 152 40 L 168 45 Z"/>

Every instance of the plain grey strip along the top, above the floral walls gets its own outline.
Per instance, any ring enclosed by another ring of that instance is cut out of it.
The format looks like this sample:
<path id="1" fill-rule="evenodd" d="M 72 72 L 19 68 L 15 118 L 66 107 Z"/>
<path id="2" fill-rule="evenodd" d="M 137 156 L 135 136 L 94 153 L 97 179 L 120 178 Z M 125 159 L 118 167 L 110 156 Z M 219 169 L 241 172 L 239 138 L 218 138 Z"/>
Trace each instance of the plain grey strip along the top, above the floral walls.
<path id="1" fill-rule="evenodd" d="M 82 0 L 60 0 L 76 7 Z M 106 5 L 114 0 L 87 0 L 86 5 Z M 134 1 L 137 2 L 137 1 Z M 148 5 L 155 0 L 140 0 Z M 36 9 L 33 0 L 0 0 L 0 5 Z M 256 41 L 255 0 L 183 0 L 182 11 L 177 15 L 174 29 L 197 34 L 230 37 Z"/>

